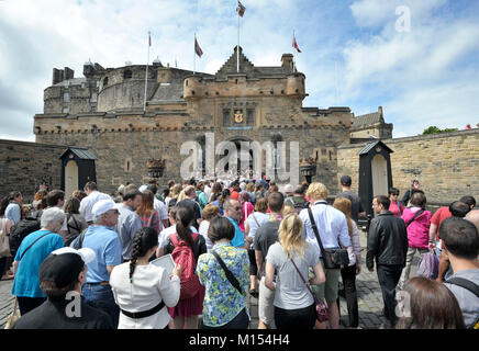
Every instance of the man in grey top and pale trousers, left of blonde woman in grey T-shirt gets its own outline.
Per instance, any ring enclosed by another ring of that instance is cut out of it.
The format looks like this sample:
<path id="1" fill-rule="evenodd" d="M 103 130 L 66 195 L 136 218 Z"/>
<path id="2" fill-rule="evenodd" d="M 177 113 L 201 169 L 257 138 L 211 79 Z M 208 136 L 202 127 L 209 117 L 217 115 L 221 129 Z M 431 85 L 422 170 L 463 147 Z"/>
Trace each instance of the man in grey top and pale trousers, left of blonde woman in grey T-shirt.
<path id="1" fill-rule="evenodd" d="M 285 196 L 280 192 L 275 192 L 268 196 L 268 205 L 270 215 L 257 230 L 255 235 L 255 257 L 258 268 L 258 275 L 261 278 L 259 282 L 259 298 L 258 298 L 258 329 L 269 329 L 275 318 L 274 299 L 275 292 L 267 288 L 265 285 L 265 258 L 268 256 L 268 250 L 271 245 L 278 241 L 279 224 L 282 220 L 282 210 L 285 205 Z"/>

